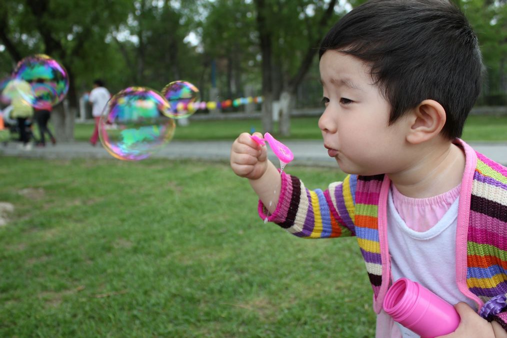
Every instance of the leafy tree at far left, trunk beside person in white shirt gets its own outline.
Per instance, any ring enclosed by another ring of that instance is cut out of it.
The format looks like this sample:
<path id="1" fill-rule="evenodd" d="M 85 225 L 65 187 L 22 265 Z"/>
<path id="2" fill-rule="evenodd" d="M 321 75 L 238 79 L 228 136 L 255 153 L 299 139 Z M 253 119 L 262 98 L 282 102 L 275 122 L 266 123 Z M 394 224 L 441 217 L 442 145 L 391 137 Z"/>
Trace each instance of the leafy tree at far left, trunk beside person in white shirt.
<path id="1" fill-rule="evenodd" d="M 99 0 L 7 0 L 0 6 L 0 17 L 5 19 L 0 24 L 0 39 L 13 61 L 44 53 L 60 61 L 68 72 L 69 92 L 64 103 L 68 102 L 69 108 L 60 104 L 52 114 L 58 140 L 74 138 L 78 105 L 74 69 L 102 71 L 101 61 L 107 57 L 103 53 L 107 49 L 105 37 L 113 25 L 124 20 L 128 8 L 127 0 L 112 4 Z"/>

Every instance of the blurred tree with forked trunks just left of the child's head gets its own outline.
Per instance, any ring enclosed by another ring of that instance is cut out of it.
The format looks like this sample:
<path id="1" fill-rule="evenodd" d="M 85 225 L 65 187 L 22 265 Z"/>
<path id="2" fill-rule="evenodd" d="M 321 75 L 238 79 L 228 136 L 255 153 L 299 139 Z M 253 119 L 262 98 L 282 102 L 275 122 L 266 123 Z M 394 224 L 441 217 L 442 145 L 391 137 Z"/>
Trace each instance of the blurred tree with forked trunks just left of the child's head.
<path id="1" fill-rule="evenodd" d="M 262 53 L 263 128 L 272 131 L 272 101 L 285 103 L 280 133 L 290 133 L 290 114 L 296 90 L 312 65 L 331 18 L 336 17 L 336 0 L 256 0 L 257 23 Z M 277 77 L 272 78 L 278 69 Z M 274 86 L 276 84 L 277 86 Z M 275 92 L 276 87 L 279 88 Z"/>

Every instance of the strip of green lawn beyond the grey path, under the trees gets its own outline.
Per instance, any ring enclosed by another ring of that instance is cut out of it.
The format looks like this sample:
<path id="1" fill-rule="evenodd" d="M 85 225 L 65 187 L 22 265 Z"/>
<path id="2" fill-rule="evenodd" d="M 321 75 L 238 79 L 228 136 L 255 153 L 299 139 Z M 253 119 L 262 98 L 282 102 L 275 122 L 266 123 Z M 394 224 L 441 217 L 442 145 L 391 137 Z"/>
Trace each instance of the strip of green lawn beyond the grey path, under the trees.
<path id="1" fill-rule="evenodd" d="M 317 126 L 318 117 L 293 118 L 291 136 L 280 139 L 321 139 Z M 239 133 L 251 129 L 262 131 L 259 119 L 228 121 L 191 121 L 189 126 L 177 126 L 175 140 L 234 140 Z M 277 127 L 276 127 L 277 128 Z M 92 124 L 77 124 L 75 138 L 88 141 L 93 132 Z M 276 130 L 275 130 L 276 136 Z M 463 131 L 465 141 L 507 141 L 507 116 L 469 116 Z"/>

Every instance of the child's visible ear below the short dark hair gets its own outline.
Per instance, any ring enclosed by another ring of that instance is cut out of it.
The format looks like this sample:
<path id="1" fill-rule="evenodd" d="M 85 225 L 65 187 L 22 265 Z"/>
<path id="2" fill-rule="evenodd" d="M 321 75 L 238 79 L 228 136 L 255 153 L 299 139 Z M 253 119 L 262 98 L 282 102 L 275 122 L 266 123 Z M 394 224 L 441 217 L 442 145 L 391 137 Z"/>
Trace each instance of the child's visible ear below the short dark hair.
<path id="1" fill-rule="evenodd" d="M 412 109 L 409 120 L 407 141 L 418 144 L 440 134 L 445 125 L 446 113 L 442 104 L 437 101 L 424 100 Z"/>

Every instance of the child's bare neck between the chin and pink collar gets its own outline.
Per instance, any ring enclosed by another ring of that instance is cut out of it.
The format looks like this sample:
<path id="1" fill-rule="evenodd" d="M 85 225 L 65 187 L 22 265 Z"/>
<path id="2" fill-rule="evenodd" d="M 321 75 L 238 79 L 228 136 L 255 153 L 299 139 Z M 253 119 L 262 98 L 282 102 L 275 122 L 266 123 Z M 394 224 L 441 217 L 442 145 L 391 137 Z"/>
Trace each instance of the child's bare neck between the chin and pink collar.
<path id="1" fill-rule="evenodd" d="M 412 198 L 427 198 L 446 193 L 461 183 L 465 156 L 457 145 L 440 142 L 422 147 L 418 154 L 415 164 L 388 174 L 400 193 Z"/>

